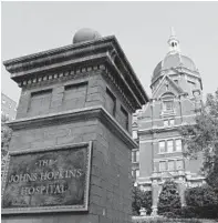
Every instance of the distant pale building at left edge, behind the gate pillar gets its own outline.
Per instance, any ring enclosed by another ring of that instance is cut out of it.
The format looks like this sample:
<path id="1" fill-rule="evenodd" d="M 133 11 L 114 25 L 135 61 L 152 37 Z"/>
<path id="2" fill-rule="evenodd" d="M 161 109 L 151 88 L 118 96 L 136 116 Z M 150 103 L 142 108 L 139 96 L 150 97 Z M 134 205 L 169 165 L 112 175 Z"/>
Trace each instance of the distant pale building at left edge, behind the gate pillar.
<path id="1" fill-rule="evenodd" d="M 9 120 L 14 120 L 17 114 L 17 103 L 3 93 L 1 93 L 1 114 Z"/>

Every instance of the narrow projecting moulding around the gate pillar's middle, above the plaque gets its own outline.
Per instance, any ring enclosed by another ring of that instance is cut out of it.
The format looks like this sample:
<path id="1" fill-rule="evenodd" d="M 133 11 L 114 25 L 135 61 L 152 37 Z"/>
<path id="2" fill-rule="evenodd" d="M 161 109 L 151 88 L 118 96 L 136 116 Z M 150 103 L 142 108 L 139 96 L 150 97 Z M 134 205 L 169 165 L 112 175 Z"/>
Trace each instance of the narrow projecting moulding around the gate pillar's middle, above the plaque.
<path id="1" fill-rule="evenodd" d="M 22 130 L 91 119 L 98 119 L 115 135 L 123 140 L 123 142 L 128 148 L 138 148 L 138 144 L 132 139 L 131 134 L 124 130 L 124 128 L 101 105 L 50 113 L 46 115 L 38 115 L 33 118 L 17 119 L 12 122 L 8 122 L 7 124 L 12 130 Z"/>

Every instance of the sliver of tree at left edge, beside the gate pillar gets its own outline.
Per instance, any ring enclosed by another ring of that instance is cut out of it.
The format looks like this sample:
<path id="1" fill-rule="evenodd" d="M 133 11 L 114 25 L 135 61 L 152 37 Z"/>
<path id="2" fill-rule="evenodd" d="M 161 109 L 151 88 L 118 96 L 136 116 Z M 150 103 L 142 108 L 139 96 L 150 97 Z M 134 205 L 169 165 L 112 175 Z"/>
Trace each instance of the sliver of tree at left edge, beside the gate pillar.
<path id="1" fill-rule="evenodd" d="M 7 125 L 9 119 L 1 115 L 1 173 L 4 170 L 6 159 L 9 151 L 9 142 L 11 140 L 12 130 Z"/>

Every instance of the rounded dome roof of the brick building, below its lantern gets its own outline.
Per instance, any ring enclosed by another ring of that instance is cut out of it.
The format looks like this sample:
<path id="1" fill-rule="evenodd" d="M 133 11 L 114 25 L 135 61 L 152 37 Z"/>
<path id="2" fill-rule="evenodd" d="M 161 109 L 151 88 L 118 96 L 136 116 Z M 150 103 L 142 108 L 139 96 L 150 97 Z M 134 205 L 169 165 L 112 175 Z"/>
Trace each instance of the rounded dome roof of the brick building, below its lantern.
<path id="1" fill-rule="evenodd" d="M 160 71 L 178 67 L 187 68 L 190 71 L 197 71 L 197 68 L 190 58 L 183 55 L 179 52 L 168 53 L 164 60 L 156 65 L 152 81 L 160 75 Z"/>

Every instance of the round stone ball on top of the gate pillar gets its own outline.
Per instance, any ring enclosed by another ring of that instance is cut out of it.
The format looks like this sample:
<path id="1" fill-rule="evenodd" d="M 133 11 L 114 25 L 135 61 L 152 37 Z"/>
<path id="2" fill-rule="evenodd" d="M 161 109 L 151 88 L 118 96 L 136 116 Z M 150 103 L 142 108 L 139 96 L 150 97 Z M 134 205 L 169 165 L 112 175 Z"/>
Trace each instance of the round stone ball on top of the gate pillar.
<path id="1" fill-rule="evenodd" d="M 89 28 L 83 28 L 75 32 L 73 37 L 73 43 L 86 42 L 91 40 L 96 40 L 98 38 L 101 38 L 101 34 L 97 31 Z"/>

